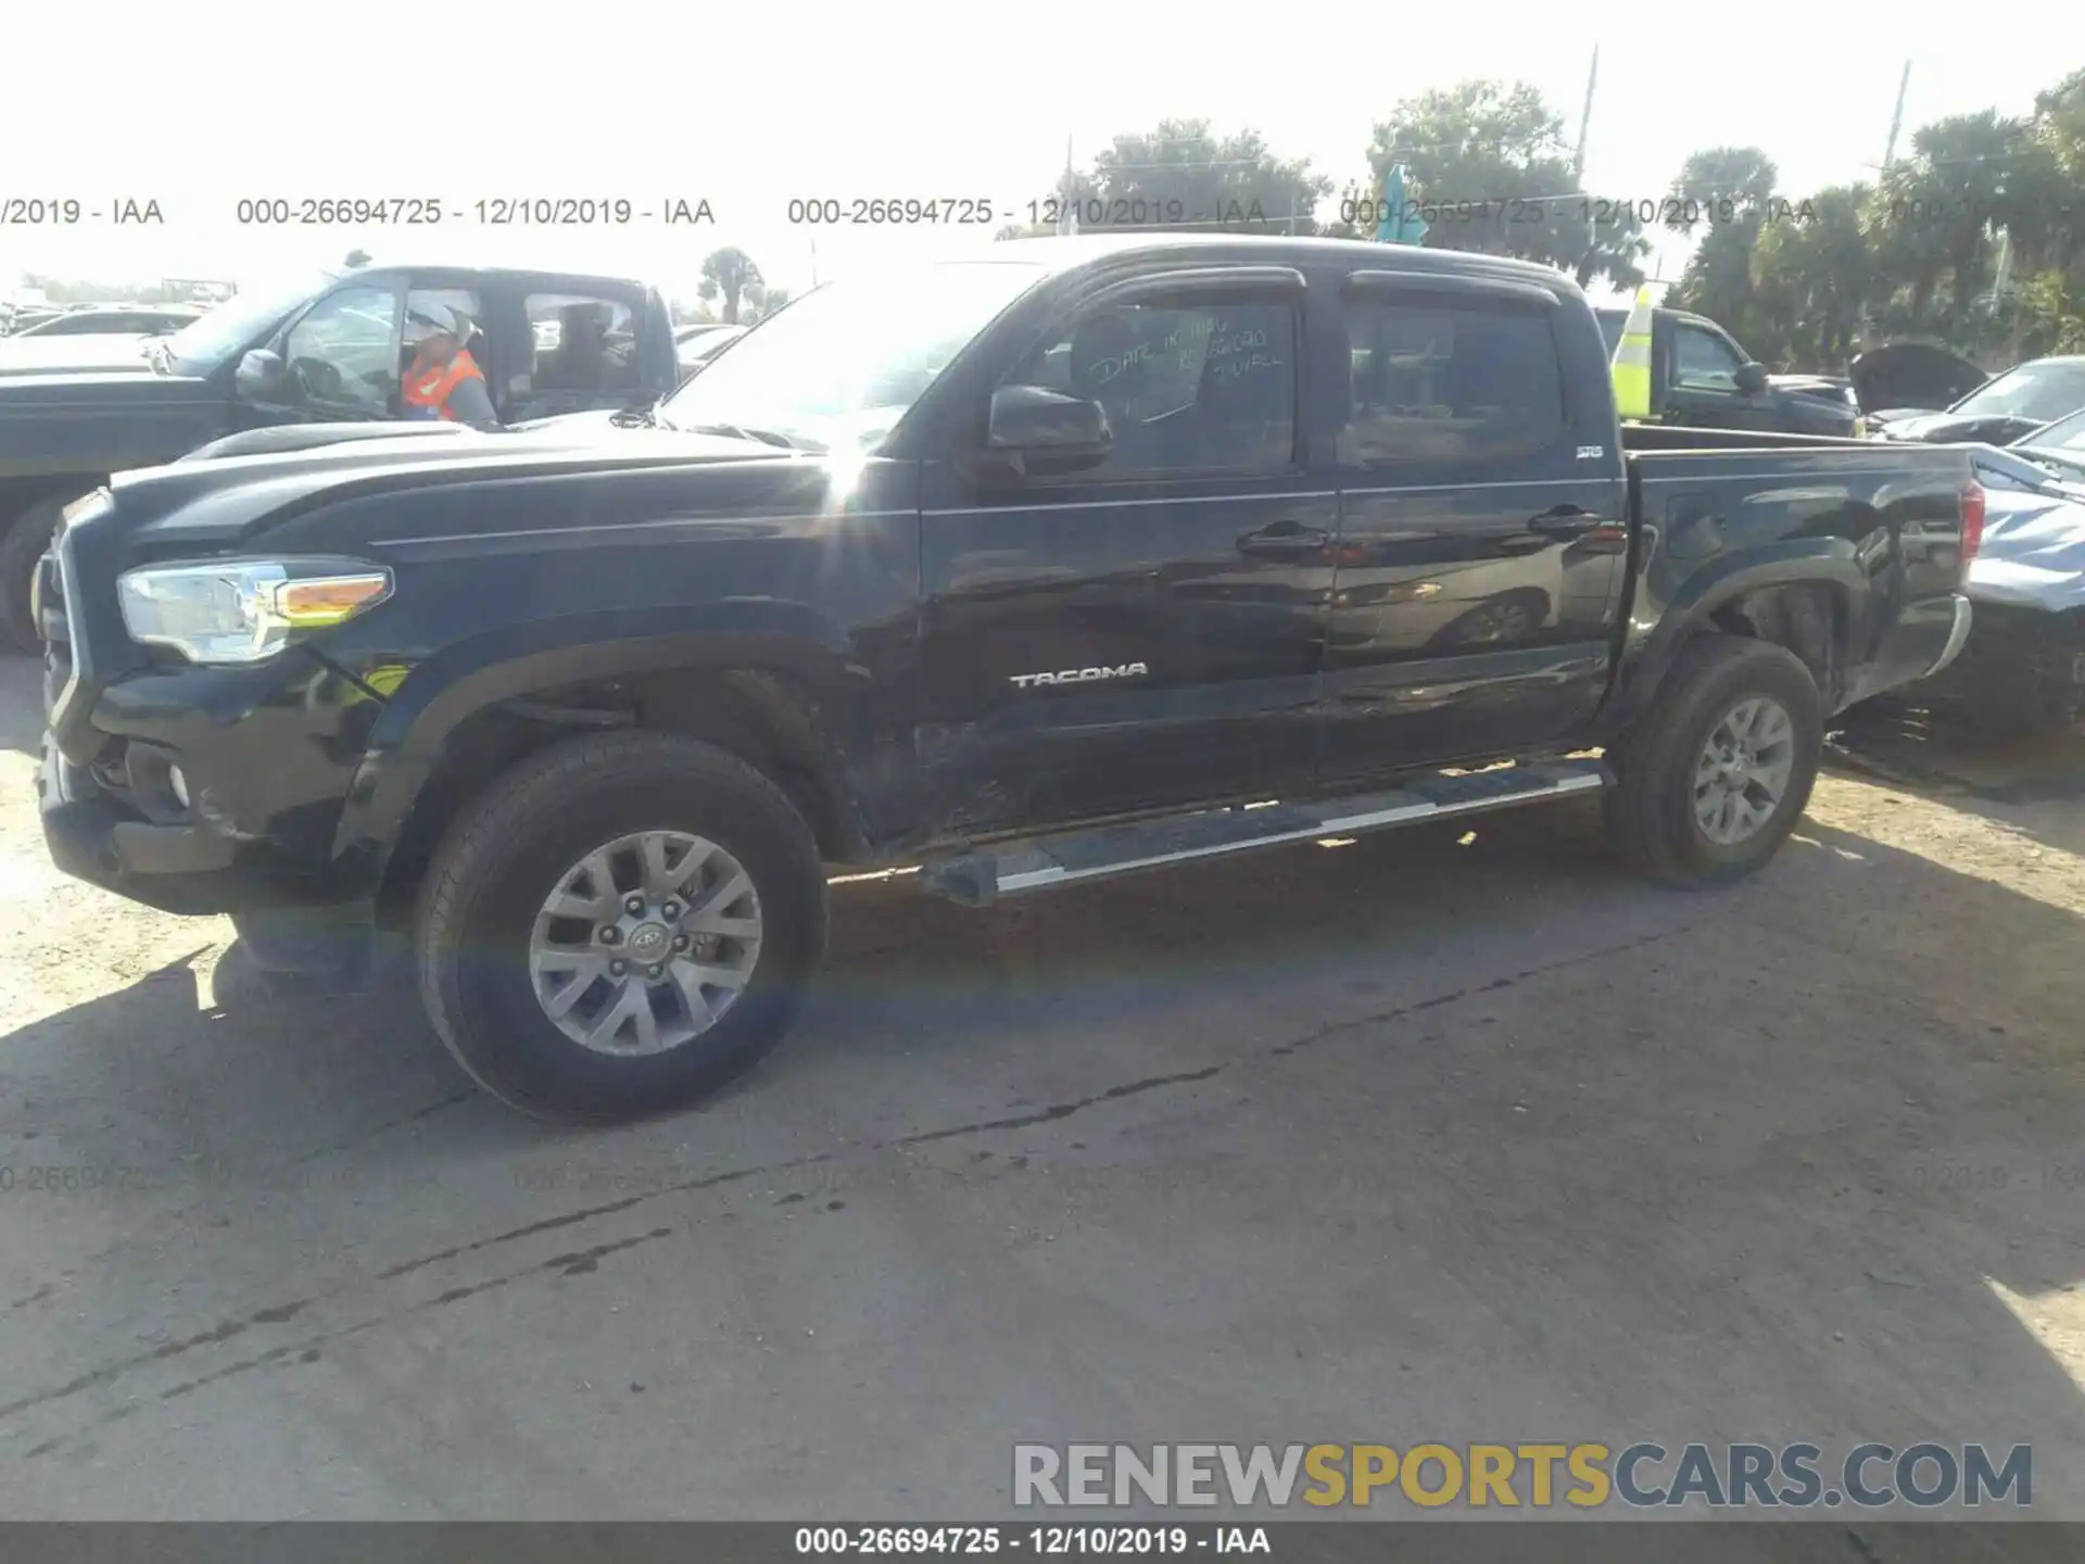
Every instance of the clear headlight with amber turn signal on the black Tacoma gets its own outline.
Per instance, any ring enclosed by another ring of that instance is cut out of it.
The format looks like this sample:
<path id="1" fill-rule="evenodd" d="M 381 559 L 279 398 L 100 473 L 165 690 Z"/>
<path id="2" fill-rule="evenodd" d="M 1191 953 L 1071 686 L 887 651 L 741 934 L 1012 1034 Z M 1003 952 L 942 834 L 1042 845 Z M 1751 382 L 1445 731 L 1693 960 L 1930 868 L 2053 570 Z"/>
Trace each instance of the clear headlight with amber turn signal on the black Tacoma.
<path id="1" fill-rule="evenodd" d="M 390 592 L 390 571 L 357 559 L 219 559 L 117 578 L 131 640 L 196 663 L 265 661 L 296 632 L 352 619 Z"/>

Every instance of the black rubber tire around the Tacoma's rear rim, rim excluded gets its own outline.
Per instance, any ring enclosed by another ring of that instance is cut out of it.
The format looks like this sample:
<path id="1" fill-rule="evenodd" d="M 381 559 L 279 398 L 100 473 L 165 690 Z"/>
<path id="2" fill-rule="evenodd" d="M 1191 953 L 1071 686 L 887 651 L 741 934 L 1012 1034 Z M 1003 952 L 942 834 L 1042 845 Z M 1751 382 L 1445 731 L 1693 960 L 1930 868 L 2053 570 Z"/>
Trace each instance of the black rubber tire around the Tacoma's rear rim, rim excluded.
<path id="1" fill-rule="evenodd" d="M 1695 767 L 1724 715 L 1770 699 L 1791 719 L 1791 765 L 1772 813 L 1743 840 L 1718 842 L 1695 817 Z M 1728 884 L 1766 863 L 1795 830 L 1816 786 L 1824 703 L 1795 653 L 1743 636 L 1701 636 L 1681 649 L 1649 713 L 1610 761 L 1608 836 L 1622 859 L 1670 886 Z"/>

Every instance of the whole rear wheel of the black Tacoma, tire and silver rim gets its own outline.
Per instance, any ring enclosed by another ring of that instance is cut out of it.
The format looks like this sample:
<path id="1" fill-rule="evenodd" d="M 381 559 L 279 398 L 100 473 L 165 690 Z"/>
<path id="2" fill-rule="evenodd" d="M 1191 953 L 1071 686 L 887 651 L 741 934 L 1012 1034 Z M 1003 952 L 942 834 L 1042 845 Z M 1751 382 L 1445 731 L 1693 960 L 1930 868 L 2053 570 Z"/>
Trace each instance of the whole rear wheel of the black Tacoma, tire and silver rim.
<path id="1" fill-rule="evenodd" d="M 1822 749 L 1824 703 L 1799 657 L 1764 640 L 1701 636 L 1681 651 L 1616 761 L 1608 834 L 1666 884 L 1743 878 L 1795 830 Z"/>

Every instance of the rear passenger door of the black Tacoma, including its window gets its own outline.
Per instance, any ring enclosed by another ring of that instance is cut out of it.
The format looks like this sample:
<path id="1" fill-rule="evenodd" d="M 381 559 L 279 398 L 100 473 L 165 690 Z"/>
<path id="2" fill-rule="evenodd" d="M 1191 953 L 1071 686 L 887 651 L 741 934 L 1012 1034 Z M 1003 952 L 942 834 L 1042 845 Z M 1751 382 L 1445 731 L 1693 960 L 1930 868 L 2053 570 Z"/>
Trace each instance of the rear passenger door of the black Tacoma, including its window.
<path id="1" fill-rule="evenodd" d="M 1626 551 L 1599 329 L 1535 284 L 1359 271 L 1341 298 L 1341 534 L 1322 780 L 1541 749 L 1608 684 Z M 1603 380 L 1599 384 L 1605 384 Z M 1580 398 L 1591 402 L 1591 398 Z"/>

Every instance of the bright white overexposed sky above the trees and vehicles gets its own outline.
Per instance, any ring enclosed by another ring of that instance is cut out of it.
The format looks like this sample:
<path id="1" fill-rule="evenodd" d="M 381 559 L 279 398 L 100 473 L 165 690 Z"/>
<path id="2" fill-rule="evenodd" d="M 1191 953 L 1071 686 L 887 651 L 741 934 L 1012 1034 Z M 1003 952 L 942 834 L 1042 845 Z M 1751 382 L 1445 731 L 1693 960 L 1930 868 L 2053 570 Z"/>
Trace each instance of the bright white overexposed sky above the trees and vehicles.
<path id="1" fill-rule="evenodd" d="M 396 4 L 296 13 L 188 0 L 98 4 L 69 23 L 38 6 L 35 58 L 0 65 L 0 219 L 17 198 L 77 198 L 100 221 L 0 223 L 0 292 L 21 271 L 261 286 L 350 248 L 636 273 L 692 298 L 703 256 L 736 244 L 803 292 L 851 267 L 986 244 L 1047 194 L 1070 142 L 1084 165 L 1118 131 L 1207 117 L 1257 129 L 1334 186 L 1366 173 L 1376 119 L 1464 77 L 1524 79 L 1574 133 L 1587 67 L 1599 85 L 1587 190 L 1658 198 L 1695 148 L 1758 144 L 1783 186 L 1872 177 L 1906 58 L 1904 138 L 1981 108 L 2027 113 L 2085 65 L 2035 48 L 1962 48 L 1904 10 L 1758 0 L 1689 31 L 1685 13 L 1616 6 L 1405 6 L 1289 0 L 884 0 L 774 13 L 623 0 L 613 8 Z M 296 21 L 290 21 L 296 17 Z M 2070 4 L 2008 6 L 2006 35 L 2081 38 Z M 1939 23 L 1939 13 L 1935 13 Z M 177 25 L 175 25 L 177 23 Z M 1597 31 L 1589 31 L 1589 27 Z M 10 33 L 21 38 L 19 21 Z M 152 40 L 125 56 L 108 38 Z M 1899 146 L 1904 142 L 1899 140 Z M 974 200 L 995 223 L 809 227 L 792 198 Z M 242 198 L 419 198 L 440 227 L 269 227 Z M 480 200 L 596 198 L 651 211 L 630 225 L 498 227 Z M 163 223 L 115 225 L 117 202 Z M 671 202 L 713 223 L 667 225 Z M 1330 215 L 1330 202 L 1326 209 Z M 1664 256 L 1678 275 L 1685 250 Z"/>

